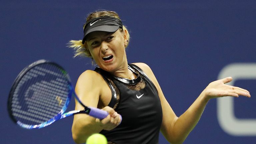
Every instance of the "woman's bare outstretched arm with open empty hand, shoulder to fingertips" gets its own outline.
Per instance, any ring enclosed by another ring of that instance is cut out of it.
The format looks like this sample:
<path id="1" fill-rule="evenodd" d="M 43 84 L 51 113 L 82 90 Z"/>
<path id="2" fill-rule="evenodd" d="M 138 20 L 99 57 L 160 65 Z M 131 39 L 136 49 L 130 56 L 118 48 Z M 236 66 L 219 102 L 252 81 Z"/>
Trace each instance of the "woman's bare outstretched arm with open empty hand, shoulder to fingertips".
<path id="1" fill-rule="evenodd" d="M 194 103 L 179 117 L 175 115 L 153 74 L 151 69 L 143 63 L 136 63 L 155 84 L 162 105 L 163 121 L 161 132 L 173 144 L 183 143 L 188 134 L 198 123 L 207 102 L 212 98 L 238 95 L 251 97 L 250 93 L 242 88 L 226 85 L 232 77 L 211 82 L 198 96 Z"/>

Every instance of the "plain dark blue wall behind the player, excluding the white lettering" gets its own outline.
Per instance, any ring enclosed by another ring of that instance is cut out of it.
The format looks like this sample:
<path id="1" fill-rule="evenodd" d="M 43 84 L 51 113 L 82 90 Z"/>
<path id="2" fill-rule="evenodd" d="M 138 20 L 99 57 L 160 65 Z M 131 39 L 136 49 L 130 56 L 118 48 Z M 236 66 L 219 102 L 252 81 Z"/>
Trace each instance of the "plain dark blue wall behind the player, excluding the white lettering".
<path id="1" fill-rule="evenodd" d="M 38 59 L 61 64 L 74 84 L 83 71 L 93 69 L 90 59 L 74 59 L 73 50 L 66 46 L 69 40 L 82 38 L 87 14 L 98 9 L 119 13 L 131 34 L 128 62 L 144 62 L 152 68 L 178 116 L 226 65 L 256 63 L 255 1 L 1 0 L 0 143 L 74 143 L 72 117 L 43 129 L 25 130 L 8 117 L 7 98 L 18 73 Z M 234 100 L 235 116 L 255 121 L 255 79 L 235 85 L 252 95 Z M 212 99 L 207 104 L 184 143 L 255 143 L 256 135 L 233 136 L 221 128 L 216 103 Z M 160 135 L 159 143 L 168 142 Z"/>

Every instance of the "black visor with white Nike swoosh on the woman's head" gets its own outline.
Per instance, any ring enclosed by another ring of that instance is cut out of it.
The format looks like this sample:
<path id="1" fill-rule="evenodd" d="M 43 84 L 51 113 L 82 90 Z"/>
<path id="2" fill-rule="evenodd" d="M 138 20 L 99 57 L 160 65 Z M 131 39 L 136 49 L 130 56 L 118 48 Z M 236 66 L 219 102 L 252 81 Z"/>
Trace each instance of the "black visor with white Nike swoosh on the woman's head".
<path id="1" fill-rule="evenodd" d="M 84 27 L 84 37 L 82 43 L 84 44 L 86 36 L 94 31 L 115 32 L 123 28 L 122 21 L 114 17 L 105 16 L 90 20 Z"/>

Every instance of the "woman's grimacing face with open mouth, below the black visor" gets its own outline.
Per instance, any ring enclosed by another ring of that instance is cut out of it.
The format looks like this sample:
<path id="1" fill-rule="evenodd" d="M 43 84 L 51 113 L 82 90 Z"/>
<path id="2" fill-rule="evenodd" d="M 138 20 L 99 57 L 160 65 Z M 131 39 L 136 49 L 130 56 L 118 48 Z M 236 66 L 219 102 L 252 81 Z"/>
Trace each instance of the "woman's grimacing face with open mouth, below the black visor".
<path id="1" fill-rule="evenodd" d="M 114 73 L 127 66 L 125 44 L 126 32 L 96 31 L 86 38 L 87 47 L 96 64 L 105 71 Z"/>

